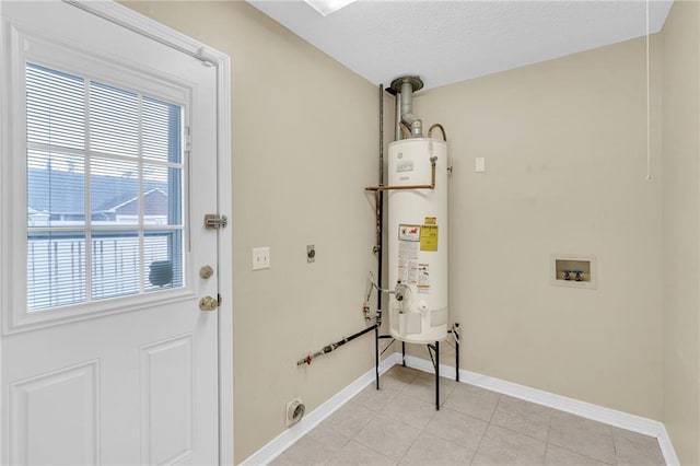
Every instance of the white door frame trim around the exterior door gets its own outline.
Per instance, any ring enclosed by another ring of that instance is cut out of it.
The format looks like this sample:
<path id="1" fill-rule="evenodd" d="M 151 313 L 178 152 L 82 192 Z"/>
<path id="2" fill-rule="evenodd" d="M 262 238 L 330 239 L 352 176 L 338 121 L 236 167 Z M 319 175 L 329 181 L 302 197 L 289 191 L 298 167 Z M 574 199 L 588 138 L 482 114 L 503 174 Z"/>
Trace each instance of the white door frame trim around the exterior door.
<path id="1" fill-rule="evenodd" d="M 218 212 L 231 217 L 231 66 L 225 54 L 112 0 L 63 0 L 77 8 L 173 47 L 217 68 Z M 7 141 L 3 141 L 7 142 Z M 4 145 L 7 149 L 7 145 Z M 203 219 L 202 219 L 203 221 Z M 233 464 L 233 260 L 231 226 L 220 229 L 219 292 L 219 462 Z M 0 252 L 1 254 L 1 252 Z M 0 335 L 0 339 L 2 336 Z"/>

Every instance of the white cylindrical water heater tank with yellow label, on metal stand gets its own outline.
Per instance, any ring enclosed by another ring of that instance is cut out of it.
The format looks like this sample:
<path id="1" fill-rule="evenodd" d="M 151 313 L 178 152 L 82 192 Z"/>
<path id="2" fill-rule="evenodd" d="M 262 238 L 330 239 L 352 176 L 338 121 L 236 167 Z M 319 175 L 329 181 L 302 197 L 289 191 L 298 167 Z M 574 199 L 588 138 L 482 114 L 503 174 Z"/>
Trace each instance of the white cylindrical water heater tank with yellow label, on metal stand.
<path id="1" fill-rule="evenodd" d="M 388 191 L 389 333 L 429 343 L 447 337 L 447 144 L 431 138 L 392 142 Z"/>

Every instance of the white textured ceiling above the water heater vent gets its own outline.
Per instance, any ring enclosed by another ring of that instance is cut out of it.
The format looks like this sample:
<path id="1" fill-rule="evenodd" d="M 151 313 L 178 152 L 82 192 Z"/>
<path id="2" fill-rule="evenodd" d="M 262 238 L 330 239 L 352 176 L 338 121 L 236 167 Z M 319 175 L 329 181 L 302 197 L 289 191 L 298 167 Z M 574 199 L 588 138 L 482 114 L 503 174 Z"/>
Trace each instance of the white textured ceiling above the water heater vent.
<path id="1" fill-rule="evenodd" d="M 296 35 L 385 86 L 435 88 L 658 32 L 673 0 L 376 1 L 322 16 L 301 0 L 248 0 Z"/>

